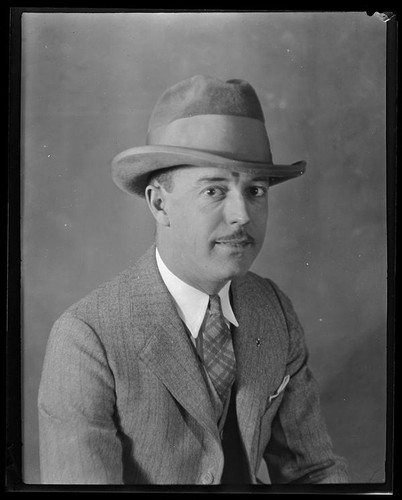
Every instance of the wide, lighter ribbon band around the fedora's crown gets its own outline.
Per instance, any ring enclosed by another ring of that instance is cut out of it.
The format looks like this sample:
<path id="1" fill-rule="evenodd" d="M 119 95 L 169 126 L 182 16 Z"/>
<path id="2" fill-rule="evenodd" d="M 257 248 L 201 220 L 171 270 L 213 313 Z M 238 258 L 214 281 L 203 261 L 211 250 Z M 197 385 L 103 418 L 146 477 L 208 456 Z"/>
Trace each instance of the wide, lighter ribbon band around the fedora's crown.
<path id="1" fill-rule="evenodd" d="M 242 161 L 272 163 L 265 125 L 245 116 L 196 115 L 179 118 L 150 130 L 147 145 L 198 149 Z"/>

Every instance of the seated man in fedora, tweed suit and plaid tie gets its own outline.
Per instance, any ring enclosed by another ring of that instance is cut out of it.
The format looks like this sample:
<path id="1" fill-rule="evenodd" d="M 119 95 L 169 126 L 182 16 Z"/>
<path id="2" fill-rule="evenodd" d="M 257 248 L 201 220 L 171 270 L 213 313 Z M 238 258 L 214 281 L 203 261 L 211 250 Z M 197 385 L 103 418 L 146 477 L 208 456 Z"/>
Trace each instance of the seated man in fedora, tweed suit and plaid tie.
<path id="1" fill-rule="evenodd" d="M 275 165 L 245 81 L 195 76 L 113 160 L 156 244 L 55 323 L 39 392 L 44 483 L 347 482 L 289 299 L 249 268 Z"/>

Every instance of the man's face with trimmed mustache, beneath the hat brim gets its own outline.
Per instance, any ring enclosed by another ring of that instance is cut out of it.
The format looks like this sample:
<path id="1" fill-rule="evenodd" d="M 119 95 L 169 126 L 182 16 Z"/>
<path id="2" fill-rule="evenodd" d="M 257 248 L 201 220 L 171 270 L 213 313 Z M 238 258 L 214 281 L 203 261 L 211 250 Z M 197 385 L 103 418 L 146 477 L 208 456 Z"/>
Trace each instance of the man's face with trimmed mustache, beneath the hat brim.
<path id="1" fill-rule="evenodd" d="M 158 235 L 166 265 L 206 293 L 243 275 L 258 255 L 268 216 L 268 178 L 256 173 L 184 167 L 163 188 L 168 226 Z"/>

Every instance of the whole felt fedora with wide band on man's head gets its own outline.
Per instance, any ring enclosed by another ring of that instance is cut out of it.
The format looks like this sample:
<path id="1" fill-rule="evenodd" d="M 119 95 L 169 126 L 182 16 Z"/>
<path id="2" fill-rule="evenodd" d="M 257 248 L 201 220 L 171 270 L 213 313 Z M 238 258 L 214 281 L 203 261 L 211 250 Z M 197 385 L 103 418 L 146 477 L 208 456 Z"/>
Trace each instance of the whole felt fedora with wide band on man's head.
<path id="1" fill-rule="evenodd" d="M 303 174 L 306 162 L 273 162 L 261 104 L 249 83 L 197 75 L 162 94 L 146 145 L 115 156 L 112 177 L 123 191 L 144 196 L 152 172 L 177 166 L 252 169 L 268 174 L 273 185 Z"/>

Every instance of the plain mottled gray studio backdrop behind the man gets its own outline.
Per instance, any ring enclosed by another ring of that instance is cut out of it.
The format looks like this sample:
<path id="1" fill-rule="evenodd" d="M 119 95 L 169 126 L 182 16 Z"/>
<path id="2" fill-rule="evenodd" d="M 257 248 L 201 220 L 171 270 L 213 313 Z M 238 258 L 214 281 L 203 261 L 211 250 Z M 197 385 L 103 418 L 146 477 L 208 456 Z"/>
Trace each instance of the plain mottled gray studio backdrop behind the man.
<path id="1" fill-rule="evenodd" d="M 144 144 L 155 101 L 194 74 L 244 78 L 274 159 L 253 266 L 292 298 L 335 451 L 384 480 L 386 24 L 365 13 L 25 13 L 22 26 L 24 480 L 37 483 L 37 391 L 65 308 L 152 243 L 110 160 Z"/>

